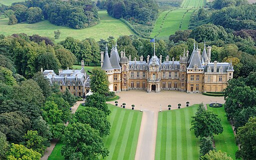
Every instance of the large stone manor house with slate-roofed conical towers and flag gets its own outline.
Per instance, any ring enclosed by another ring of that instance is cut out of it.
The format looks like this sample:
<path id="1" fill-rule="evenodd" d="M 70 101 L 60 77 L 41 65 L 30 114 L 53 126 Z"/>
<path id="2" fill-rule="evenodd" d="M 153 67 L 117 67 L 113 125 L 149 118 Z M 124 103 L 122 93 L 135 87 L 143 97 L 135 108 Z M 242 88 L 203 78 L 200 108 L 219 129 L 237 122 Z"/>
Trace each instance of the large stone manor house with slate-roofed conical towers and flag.
<path id="1" fill-rule="evenodd" d="M 110 91 L 143 89 L 147 92 L 160 92 L 161 90 L 180 90 L 190 93 L 206 91 L 222 91 L 227 81 L 233 77 L 232 62 L 211 62 L 211 47 L 201 50 L 194 48 L 190 58 L 188 50 L 179 56 L 179 61 L 169 59 L 167 55 L 158 58 L 149 55 L 143 60 L 136 57 L 131 60 L 117 46 L 112 47 L 110 57 L 107 47 L 101 54 L 101 68 L 106 72 Z"/>

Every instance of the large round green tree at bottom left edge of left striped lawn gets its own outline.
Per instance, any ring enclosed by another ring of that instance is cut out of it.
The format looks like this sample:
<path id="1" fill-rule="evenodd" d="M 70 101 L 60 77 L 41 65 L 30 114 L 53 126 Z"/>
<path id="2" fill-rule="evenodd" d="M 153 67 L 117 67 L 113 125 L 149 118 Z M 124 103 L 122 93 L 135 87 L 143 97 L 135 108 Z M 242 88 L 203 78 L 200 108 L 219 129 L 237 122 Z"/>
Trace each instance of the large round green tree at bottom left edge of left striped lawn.
<path id="1" fill-rule="evenodd" d="M 64 131 L 63 143 L 61 154 L 65 159 L 77 154 L 78 159 L 98 159 L 100 155 L 103 158 L 108 155 L 98 130 L 91 128 L 89 124 L 69 124 Z"/>

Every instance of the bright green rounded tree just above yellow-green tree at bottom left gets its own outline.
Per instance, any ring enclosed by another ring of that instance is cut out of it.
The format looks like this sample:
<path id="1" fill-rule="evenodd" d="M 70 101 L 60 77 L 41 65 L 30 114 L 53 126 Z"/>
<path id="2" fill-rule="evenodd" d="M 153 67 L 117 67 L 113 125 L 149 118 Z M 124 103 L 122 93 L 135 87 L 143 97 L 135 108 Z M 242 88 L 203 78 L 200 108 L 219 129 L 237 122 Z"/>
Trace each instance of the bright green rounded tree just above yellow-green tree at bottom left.
<path id="1" fill-rule="evenodd" d="M 24 142 L 21 144 L 28 149 L 33 149 L 41 155 L 43 155 L 47 145 L 49 146 L 48 139 L 38 135 L 36 130 L 27 130 L 27 133 L 23 136 Z"/>

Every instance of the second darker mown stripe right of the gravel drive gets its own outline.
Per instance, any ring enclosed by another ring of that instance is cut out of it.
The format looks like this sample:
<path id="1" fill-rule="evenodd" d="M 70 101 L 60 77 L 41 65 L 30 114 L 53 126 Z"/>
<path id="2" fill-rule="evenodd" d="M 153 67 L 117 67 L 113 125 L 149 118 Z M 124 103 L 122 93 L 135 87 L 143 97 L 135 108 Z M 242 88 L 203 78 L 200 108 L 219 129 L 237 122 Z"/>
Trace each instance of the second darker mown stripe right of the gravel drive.
<path id="1" fill-rule="evenodd" d="M 177 143 L 177 133 L 176 133 L 176 111 L 173 111 L 171 114 L 171 158 L 177 159 L 177 152 L 176 152 L 176 143 Z"/>

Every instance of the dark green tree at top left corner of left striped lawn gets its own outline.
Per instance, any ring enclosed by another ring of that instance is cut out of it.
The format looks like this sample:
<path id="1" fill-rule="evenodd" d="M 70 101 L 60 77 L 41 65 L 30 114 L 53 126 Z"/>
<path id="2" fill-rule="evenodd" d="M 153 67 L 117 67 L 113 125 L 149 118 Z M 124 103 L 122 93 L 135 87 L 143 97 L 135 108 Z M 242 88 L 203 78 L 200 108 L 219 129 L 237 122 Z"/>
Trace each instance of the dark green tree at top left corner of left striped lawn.
<path id="1" fill-rule="evenodd" d="M 102 110 L 106 115 L 109 115 L 111 112 L 105 103 L 105 96 L 97 92 L 86 97 L 85 106 L 95 107 L 98 110 Z"/>

